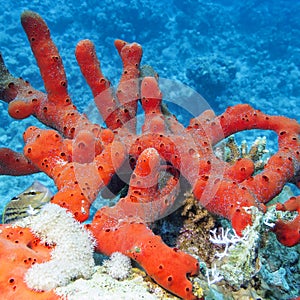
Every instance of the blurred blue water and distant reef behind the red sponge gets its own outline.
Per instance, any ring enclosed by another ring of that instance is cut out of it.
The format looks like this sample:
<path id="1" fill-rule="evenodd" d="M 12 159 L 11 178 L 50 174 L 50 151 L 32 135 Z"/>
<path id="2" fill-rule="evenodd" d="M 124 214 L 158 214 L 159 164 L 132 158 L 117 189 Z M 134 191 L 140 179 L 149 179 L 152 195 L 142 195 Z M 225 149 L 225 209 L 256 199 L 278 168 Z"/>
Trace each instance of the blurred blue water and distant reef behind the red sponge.
<path id="1" fill-rule="evenodd" d="M 229 105 L 249 103 L 300 121 L 300 1 L 78 2 L 0 0 L 0 50 L 13 74 L 43 90 L 20 25 L 21 12 L 30 9 L 49 25 L 65 64 L 69 92 L 81 111 L 92 96 L 75 60 L 77 42 L 88 38 L 95 43 L 104 74 L 116 84 L 121 61 L 113 42 L 121 38 L 140 43 L 143 64 L 161 78 L 195 89 L 217 114 Z M 6 109 L 0 103 L 0 146 L 22 151 L 23 131 L 38 123 L 33 118 L 13 120 Z M 275 149 L 272 137 L 268 146 Z M 32 178 L 0 177 L 0 208 Z M 43 174 L 35 178 L 55 190 Z"/>

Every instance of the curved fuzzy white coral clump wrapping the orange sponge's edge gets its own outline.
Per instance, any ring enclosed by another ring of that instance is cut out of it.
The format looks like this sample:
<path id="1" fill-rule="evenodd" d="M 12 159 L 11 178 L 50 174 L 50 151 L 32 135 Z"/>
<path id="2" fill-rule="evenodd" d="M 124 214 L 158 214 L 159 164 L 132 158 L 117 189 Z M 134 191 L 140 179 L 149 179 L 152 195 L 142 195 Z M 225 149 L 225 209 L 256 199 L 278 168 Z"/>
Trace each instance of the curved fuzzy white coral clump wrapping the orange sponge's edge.
<path id="1" fill-rule="evenodd" d="M 30 288 L 47 291 L 93 274 L 95 240 L 66 209 L 49 203 L 26 222 L 42 241 L 55 245 L 50 261 L 35 264 L 26 272 Z"/>

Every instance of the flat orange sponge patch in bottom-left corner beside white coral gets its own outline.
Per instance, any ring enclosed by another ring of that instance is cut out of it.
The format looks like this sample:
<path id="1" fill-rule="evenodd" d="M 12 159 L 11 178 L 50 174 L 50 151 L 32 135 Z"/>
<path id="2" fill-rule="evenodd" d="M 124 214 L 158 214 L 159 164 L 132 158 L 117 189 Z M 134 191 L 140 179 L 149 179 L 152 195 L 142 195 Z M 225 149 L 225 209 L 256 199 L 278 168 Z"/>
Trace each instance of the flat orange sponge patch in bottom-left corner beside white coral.
<path id="1" fill-rule="evenodd" d="M 27 287 L 24 275 L 35 263 L 50 259 L 52 247 L 41 244 L 28 228 L 0 225 L 0 291 L 5 300 L 59 299 L 53 292 Z"/>

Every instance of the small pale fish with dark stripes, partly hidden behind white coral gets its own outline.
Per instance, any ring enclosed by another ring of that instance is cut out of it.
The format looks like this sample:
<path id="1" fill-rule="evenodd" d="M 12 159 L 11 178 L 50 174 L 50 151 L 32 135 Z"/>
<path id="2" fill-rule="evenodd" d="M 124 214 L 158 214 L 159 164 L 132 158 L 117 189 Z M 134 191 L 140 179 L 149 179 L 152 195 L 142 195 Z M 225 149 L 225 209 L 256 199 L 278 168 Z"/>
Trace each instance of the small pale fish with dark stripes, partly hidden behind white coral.
<path id="1" fill-rule="evenodd" d="M 13 223 L 19 219 L 35 215 L 48 203 L 53 194 L 43 184 L 35 181 L 18 196 L 13 197 L 4 208 L 2 223 Z"/>

